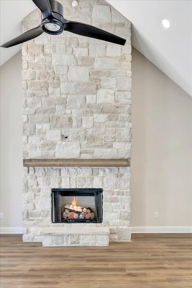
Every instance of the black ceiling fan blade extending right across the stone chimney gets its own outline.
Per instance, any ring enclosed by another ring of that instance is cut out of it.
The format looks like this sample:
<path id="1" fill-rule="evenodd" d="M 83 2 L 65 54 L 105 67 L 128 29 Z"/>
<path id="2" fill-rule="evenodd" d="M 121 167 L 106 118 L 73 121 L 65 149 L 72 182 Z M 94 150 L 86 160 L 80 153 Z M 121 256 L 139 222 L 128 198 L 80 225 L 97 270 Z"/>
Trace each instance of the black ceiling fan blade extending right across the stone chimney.
<path id="1" fill-rule="evenodd" d="M 116 36 L 112 33 L 106 32 L 104 30 L 101 30 L 97 27 L 80 23 L 80 22 L 74 22 L 74 21 L 67 21 L 64 24 L 64 30 L 67 30 L 69 32 L 82 35 L 82 36 L 87 36 L 91 38 L 96 38 L 112 43 L 116 43 L 119 45 L 125 45 L 126 40 Z"/>

